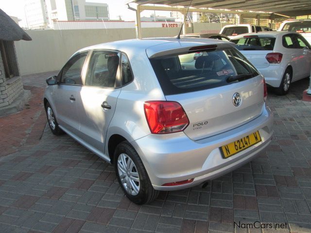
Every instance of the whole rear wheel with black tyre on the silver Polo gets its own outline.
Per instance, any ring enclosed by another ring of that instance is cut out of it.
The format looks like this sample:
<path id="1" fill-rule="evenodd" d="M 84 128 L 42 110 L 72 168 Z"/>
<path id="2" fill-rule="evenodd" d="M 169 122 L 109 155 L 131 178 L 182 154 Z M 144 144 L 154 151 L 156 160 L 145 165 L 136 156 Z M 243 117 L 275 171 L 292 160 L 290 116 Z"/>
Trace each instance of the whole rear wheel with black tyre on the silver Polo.
<path id="1" fill-rule="evenodd" d="M 120 186 L 129 200 L 142 205 L 156 199 L 159 191 L 153 188 L 138 153 L 130 143 L 124 141 L 118 144 L 114 152 L 114 165 Z"/>

